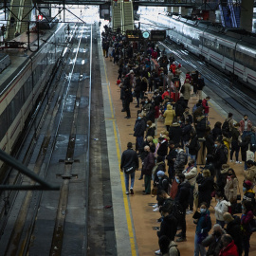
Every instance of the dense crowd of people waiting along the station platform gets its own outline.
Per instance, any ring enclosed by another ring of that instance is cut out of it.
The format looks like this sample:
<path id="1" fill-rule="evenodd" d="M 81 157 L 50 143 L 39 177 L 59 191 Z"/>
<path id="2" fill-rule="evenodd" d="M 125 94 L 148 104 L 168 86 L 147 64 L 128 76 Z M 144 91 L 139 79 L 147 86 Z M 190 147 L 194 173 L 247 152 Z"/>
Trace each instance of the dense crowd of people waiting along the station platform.
<path id="1" fill-rule="evenodd" d="M 247 115 L 235 123 L 229 113 L 224 123 L 217 121 L 211 129 L 210 97 L 203 99 L 205 82 L 199 72 L 187 72 L 182 84 L 181 65 L 174 56 L 168 57 L 153 42 L 147 46 L 130 43 L 119 29 L 114 33 L 104 28 L 103 54 L 118 65 L 120 111 L 126 112 L 125 119 L 131 118 L 130 103 L 137 102 L 136 146 L 133 149 L 132 142 L 127 144 L 120 170 L 125 174 L 127 195 L 134 194 L 139 169 L 143 194 L 156 195 L 153 210 L 160 213 L 160 228 L 155 254 L 179 255 L 176 243 L 187 241 L 186 215 L 193 214 L 194 255 L 240 256 L 244 252 L 247 256 L 256 212 L 253 123 Z M 192 95 L 198 101 L 191 109 Z M 165 127 L 162 131 L 159 122 Z M 229 166 L 234 153 L 235 164 L 244 162 L 243 194 Z M 212 198 L 216 201 L 214 224 L 210 219 Z M 239 213 L 241 217 L 235 215 Z"/>

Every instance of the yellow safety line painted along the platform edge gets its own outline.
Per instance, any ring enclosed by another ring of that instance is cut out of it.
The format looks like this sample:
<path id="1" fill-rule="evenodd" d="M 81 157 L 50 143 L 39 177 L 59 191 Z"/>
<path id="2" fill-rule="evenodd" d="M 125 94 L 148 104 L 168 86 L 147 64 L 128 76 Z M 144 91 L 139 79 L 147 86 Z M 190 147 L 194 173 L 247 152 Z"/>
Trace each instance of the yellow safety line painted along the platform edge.
<path id="1" fill-rule="evenodd" d="M 106 73 L 105 60 L 103 60 L 103 64 L 104 64 L 106 82 L 109 84 L 108 78 L 107 78 L 107 73 Z M 112 99 L 111 99 L 109 85 L 107 86 L 107 91 L 108 91 L 108 98 L 109 98 L 109 103 L 110 103 L 111 116 L 112 116 L 112 119 L 113 119 L 114 118 L 113 102 L 112 102 Z M 116 121 L 115 120 L 113 120 L 113 128 L 114 128 L 117 155 L 118 155 L 119 166 L 120 166 L 119 138 L 118 138 L 118 132 L 117 132 Z M 123 194 L 123 203 L 124 203 L 125 215 L 126 215 L 126 220 L 127 220 L 127 228 L 128 228 L 128 233 L 129 233 L 129 237 L 130 237 L 132 256 L 136 256 L 137 252 L 136 252 L 136 246 L 135 246 L 135 237 L 134 237 L 134 232 L 133 232 L 133 225 L 132 225 L 132 220 L 131 220 L 130 210 L 129 210 L 129 204 L 128 204 L 128 196 L 125 194 L 126 189 L 125 189 L 124 177 L 123 176 L 121 177 L 121 174 L 122 173 L 119 172 L 120 181 L 121 181 L 121 189 L 122 189 L 122 194 Z"/>

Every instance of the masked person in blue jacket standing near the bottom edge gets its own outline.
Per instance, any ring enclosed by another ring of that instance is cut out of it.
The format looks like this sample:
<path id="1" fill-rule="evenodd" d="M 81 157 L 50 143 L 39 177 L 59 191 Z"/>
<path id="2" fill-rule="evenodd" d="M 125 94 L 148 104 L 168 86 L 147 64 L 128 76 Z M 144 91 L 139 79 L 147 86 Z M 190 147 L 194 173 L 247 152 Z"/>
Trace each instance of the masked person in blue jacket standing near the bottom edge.
<path id="1" fill-rule="evenodd" d="M 198 219 L 194 235 L 194 256 L 206 255 L 206 247 L 202 246 L 202 241 L 208 236 L 211 229 L 210 211 L 207 203 L 200 204 L 200 213 L 201 216 Z"/>

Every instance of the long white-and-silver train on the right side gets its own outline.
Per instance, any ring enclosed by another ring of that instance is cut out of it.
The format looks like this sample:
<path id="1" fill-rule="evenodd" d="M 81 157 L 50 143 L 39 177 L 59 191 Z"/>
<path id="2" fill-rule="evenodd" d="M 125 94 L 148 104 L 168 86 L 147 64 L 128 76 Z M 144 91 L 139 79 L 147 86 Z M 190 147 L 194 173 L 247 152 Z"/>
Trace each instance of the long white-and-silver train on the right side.
<path id="1" fill-rule="evenodd" d="M 167 29 L 170 40 L 256 90 L 256 37 L 253 34 L 168 12 L 147 15 L 140 11 L 140 21 L 143 20 L 159 26 L 155 29 Z"/>

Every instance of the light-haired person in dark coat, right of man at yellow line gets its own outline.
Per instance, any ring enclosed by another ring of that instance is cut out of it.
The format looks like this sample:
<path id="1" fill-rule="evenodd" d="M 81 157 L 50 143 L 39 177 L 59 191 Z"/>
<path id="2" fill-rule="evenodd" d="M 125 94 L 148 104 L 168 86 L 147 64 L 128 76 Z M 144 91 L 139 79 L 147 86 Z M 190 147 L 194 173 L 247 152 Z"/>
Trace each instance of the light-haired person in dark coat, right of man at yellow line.
<path id="1" fill-rule="evenodd" d="M 144 151 L 147 152 L 147 156 L 143 161 L 142 175 L 144 174 L 144 182 L 145 182 L 145 192 L 143 194 L 150 194 L 151 192 L 151 177 L 152 170 L 155 166 L 155 156 L 154 153 L 150 151 L 149 146 L 144 147 Z"/>

